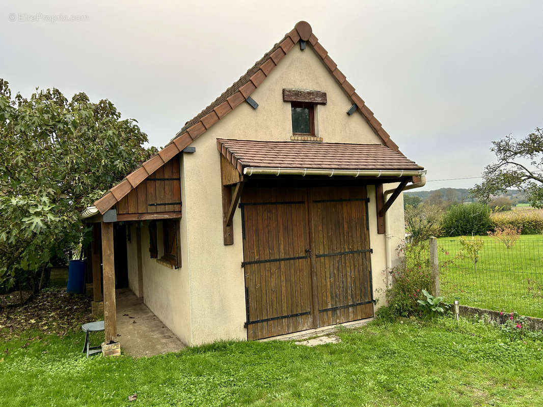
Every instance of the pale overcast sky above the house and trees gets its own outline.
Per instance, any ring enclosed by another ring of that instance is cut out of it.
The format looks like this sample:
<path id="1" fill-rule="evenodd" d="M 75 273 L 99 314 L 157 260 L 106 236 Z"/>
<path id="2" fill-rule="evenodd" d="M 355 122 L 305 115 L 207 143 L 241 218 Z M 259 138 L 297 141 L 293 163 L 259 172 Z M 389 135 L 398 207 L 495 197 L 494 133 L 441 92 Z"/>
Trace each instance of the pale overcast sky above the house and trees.
<path id="1" fill-rule="evenodd" d="M 0 77 L 109 99 L 159 147 L 300 20 L 428 181 L 479 176 L 491 141 L 543 127 L 541 0 L 3 0 Z"/>

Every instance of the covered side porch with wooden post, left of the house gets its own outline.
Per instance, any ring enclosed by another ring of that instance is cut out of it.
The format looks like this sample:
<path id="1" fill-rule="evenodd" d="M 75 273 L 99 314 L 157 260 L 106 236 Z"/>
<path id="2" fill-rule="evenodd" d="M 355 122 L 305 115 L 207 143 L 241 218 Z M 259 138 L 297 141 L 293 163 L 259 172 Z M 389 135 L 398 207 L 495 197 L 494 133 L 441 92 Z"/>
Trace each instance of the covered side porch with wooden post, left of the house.
<path id="1" fill-rule="evenodd" d="M 135 357 L 185 347 L 144 303 L 146 261 L 181 267 L 178 157 L 103 214 L 89 207 L 83 217 L 92 228 L 87 262 L 92 270 L 92 313 L 104 315 L 103 354 L 120 354 L 121 344 Z M 146 252 L 151 259 L 143 258 Z"/>

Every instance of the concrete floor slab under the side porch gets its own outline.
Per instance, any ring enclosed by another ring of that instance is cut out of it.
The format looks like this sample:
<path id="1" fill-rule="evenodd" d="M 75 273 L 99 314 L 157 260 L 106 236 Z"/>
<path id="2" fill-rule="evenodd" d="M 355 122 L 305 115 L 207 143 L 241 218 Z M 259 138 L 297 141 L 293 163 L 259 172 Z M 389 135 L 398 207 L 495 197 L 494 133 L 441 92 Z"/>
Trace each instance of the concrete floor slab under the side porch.
<path id="1" fill-rule="evenodd" d="M 124 353 L 140 358 L 185 348 L 153 312 L 128 288 L 116 290 L 117 340 Z"/>

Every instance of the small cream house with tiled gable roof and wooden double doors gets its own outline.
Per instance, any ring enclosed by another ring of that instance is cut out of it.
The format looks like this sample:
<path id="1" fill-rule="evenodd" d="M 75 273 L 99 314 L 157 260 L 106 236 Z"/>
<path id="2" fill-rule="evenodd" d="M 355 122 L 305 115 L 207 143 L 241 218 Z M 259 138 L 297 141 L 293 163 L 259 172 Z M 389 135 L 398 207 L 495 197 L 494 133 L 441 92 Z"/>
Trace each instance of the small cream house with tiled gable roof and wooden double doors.
<path id="1" fill-rule="evenodd" d="M 374 316 L 424 182 L 300 21 L 83 212 L 106 344 L 121 281 L 189 346 Z"/>

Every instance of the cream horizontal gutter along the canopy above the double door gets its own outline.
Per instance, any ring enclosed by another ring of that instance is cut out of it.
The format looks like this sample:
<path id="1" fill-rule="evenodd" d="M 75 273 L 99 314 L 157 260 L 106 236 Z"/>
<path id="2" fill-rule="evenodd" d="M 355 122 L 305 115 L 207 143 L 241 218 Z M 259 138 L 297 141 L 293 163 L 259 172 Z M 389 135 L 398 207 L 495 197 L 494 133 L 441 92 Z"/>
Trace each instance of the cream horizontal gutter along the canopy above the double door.
<path id="1" fill-rule="evenodd" d="M 321 176 L 353 176 L 353 177 L 422 177 L 426 174 L 424 170 L 345 170 L 345 169 L 314 169 L 314 168 L 267 168 L 267 167 L 246 167 L 243 174 L 251 175 L 321 175 Z"/>

